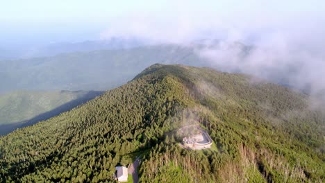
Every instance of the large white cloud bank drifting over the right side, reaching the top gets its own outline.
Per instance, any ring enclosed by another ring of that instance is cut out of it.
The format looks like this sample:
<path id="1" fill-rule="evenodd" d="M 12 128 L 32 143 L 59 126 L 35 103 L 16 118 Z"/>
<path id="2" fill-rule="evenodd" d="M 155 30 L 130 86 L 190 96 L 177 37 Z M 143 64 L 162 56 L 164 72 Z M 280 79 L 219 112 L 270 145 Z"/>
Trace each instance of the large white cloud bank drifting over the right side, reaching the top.
<path id="1" fill-rule="evenodd" d="M 140 37 L 153 44 L 183 46 L 217 39 L 193 46 L 208 66 L 266 78 L 325 99 L 324 4 L 246 3 L 208 7 L 176 1 L 165 7 L 174 8 L 166 15 L 135 12 L 112 19 L 101 37 Z"/>

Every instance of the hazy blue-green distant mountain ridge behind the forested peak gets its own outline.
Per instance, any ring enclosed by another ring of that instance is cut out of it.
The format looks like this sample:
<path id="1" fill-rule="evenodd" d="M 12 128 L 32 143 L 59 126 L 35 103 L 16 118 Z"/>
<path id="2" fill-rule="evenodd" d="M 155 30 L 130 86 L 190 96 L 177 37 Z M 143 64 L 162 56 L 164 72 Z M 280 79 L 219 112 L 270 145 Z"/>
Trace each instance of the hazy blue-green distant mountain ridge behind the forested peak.
<path id="1" fill-rule="evenodd" d="M 156 62 L 200 66 L 193 49 L 176 45 L 74 52 L 44 58 L 0 60 L 0 93 L 12 90 L 106 90 Z"/>

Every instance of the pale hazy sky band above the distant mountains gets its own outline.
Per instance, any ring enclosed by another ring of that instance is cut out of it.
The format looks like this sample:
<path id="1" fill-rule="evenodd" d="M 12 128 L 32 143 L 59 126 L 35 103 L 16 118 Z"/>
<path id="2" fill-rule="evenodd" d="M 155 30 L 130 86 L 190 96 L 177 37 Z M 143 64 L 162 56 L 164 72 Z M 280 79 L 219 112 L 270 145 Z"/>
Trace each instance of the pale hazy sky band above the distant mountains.
<path id="1" fill-rule="evenodd" d="M 0 47 L 129 36 L 177 43 L 199 37 L 258 41 L 322 33 L 324 10 L 319 1 L 13 0 L 0 8 Z"/>

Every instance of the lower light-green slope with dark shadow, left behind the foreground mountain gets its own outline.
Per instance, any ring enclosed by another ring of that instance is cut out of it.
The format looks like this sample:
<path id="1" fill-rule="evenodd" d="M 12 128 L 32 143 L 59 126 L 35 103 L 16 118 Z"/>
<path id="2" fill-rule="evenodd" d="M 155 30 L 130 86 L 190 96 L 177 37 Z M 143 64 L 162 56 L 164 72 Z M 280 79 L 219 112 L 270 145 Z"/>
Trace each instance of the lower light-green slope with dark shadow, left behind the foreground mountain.
<path id="1" fill-rule="evenodd" d="M 71 110 L 102 92 L 16 91 L 0 94 L 0 134 Z"/>

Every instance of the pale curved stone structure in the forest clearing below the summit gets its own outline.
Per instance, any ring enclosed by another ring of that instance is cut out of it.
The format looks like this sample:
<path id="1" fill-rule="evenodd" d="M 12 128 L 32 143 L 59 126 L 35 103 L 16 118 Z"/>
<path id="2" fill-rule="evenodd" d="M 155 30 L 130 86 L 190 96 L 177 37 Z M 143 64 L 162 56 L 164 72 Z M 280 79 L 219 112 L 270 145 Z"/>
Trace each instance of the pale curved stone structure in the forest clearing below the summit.
<path id="1" fill-rule="evenodd" d="M 187 125 L 178 130 L 183 136 L 183 146 L 189 149 L 205 149 L 211 148 L 213 140 L 210 135 L 199 125 Z"/>

